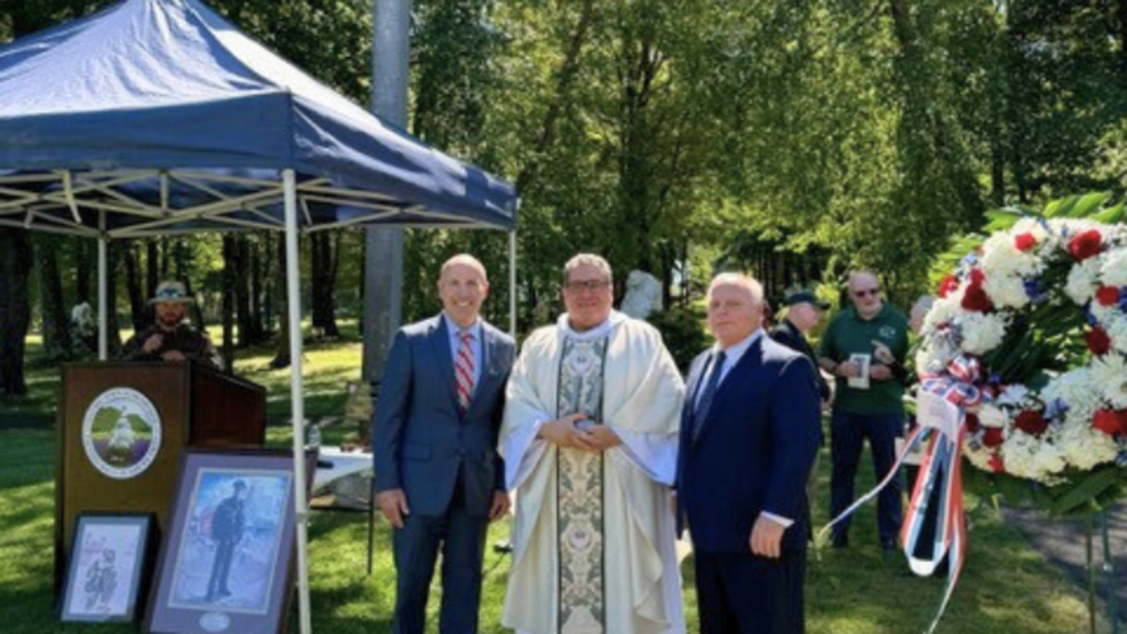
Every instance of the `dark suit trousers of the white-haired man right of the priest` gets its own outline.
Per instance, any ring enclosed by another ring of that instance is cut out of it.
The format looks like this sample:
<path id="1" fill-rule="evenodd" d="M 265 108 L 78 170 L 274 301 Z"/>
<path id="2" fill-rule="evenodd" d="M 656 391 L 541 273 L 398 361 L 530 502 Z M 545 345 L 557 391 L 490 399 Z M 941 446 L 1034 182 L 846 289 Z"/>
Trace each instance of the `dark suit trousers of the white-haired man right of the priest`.
<path id="1" fill-rule="evenodd" d="M 778 560 L 751 553 L 701 553 L 696 605 L 701 634 L 802 634 L 806 548 Z"/>

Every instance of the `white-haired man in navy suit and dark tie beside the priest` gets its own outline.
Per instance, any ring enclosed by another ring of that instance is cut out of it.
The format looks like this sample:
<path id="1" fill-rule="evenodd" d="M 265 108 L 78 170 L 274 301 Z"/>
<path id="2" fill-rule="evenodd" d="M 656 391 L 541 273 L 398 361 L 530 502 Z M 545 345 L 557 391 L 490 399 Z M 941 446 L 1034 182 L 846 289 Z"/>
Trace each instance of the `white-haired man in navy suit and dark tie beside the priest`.
<path id="1" fill-rule="evenodd" d="M 814 364 L 772 341 L 762 323 L 757 282 L 712 280 L 717 345 L 689 372 L 677 468 L 701 634 L 805 631 L 805 486 L 822 440 L 819 399 Z"/>

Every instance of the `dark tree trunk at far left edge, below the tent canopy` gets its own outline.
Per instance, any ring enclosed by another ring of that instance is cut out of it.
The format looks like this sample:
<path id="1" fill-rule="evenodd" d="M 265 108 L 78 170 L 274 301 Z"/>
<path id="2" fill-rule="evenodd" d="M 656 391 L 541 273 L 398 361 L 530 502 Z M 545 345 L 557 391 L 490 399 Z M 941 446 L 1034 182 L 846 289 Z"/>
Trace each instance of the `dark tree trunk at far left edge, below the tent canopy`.
<path id="1" fill-rule="evenodd" d="M 0 398 L 27 394 L 24 340 L 32 322 L 27 296 L 32 256 L 27 231 L 0 227 Z"/>

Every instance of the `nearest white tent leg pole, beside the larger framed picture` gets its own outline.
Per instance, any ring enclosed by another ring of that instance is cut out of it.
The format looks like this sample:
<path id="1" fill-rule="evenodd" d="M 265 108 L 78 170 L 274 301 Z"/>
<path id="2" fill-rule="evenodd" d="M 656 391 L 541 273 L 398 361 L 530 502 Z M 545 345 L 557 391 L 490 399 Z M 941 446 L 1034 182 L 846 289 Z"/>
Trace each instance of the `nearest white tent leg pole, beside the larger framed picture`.
<path id="1" fill-rule="evenodd" d="M 298 267 L 298 180 L 292 169 L 282 171 L 285 196 L 286 294 L 290 307 L 290 392 L 293 399 L 293 503 L 298 539 L 298 616 L 301 634 L 312 632 L 309 611 L 309 504 L 305 501 L 305 395 L 301 376 L 301 271 Z"/>

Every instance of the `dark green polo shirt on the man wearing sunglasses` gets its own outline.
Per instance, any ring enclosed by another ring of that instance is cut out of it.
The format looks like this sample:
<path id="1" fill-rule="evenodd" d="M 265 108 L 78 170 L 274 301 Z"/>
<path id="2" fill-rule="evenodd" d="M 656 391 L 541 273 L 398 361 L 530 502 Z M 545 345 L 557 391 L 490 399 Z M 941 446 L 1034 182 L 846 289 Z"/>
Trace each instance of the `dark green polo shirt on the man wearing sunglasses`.
<path id="1" fill-rule="evenodd" d="M 861 319 L 850 306 L 837 313 L 822 337 L 818 357 L 836 363 L 848 361 L 850 355 L 872 355 L 873 341 L 880 341 L 893 351 L 896 360 L 904 363 L 908 352 L 908 321 L 886 303 L 872 319 Z M 876 364 L 876 358 L 872 359 Z M 895 377 L 871 381 L 868 390 L 850 387 L 845 378 L 837 377 L 834 408 L 854 414 L 894 414 L 904 412 L 904 384 Z"/>

